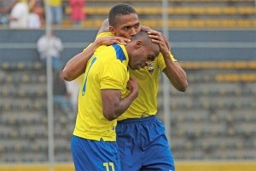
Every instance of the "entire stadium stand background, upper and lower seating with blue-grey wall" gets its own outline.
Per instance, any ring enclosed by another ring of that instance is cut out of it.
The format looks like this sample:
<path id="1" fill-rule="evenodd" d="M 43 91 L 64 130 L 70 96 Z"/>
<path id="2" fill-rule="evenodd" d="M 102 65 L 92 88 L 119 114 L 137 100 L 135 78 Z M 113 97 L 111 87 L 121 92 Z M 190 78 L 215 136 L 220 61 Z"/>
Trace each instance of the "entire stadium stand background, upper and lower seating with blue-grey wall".
<path id="1" fill-rule="evenodd" d="M 161 26 L 158 18 L 161 17 L 160 0 L 125 2 L 136 7 L 143 25 Z M 96 35 L 94 28 L 102 24 L 115 3 L 119 1 L 86 1 L 86 31 L 84 28 L 67 29 L 71 26 L 70 9 L 65 6 L 65 29 L 56 30 L 65 46 L 63 63 L 93 40 Z M 172 52 L 187 71 L 189 79 L 185 93 L 174 88 L 169 92 L 172 127 L 169 136 L 178 170 L 253 170 L 256 160 L 254 1 L 173 0 L 169 4 Z M 149 15 L 154 17 L 148 19 Z M 211 30 L 195 31 L 195 28 Z M 0 164 L 1 171 L 18 168 L 28 171 L 24 166 L 12 169 L 11 165 L 48 161 L 46 71 L 38 61 L 35 49 L 43 32 L 0 30 L 0 163 L 9 164 L 7 167 Z M 161 86 L 160 113 L 164 93 Z M 63 115 L 57 105 L 54 114 L 55 162 L 72 162 L 69 146 L 74 120 Z M 164 116 L 159 117 L 163 119 Z M 182 163 L 184 160 L 201 162 Z M 218 165 L 207 168 L 210 164 L 205 164 L 205 161 L 217 161 Z M 230 165 L 227 161 L 236 164 L 224 169 Z M 247 161 L 253 161 L 254 165 Z M 199 168 L 200 164 L 206 169 Z M 31 170 L 39 168 L 44 166 L 34 165 Z M 65 165 L 59 170 L 73 170 L 73 165 Z"/>

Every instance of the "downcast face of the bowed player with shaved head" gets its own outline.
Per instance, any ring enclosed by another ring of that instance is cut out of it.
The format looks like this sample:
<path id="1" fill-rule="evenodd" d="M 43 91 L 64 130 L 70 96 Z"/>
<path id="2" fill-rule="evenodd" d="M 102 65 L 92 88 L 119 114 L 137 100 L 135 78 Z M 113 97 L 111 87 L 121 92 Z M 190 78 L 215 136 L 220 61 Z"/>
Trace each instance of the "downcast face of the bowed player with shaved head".
<path id="1" fill-rule="evenodd" d="M 140 70 L 145 66 L 149 66 L 152 61 L 160 53 L 158 45 L 148 46 L 134 49 L 129 55 L 129 66 L 131 70 Z"/>

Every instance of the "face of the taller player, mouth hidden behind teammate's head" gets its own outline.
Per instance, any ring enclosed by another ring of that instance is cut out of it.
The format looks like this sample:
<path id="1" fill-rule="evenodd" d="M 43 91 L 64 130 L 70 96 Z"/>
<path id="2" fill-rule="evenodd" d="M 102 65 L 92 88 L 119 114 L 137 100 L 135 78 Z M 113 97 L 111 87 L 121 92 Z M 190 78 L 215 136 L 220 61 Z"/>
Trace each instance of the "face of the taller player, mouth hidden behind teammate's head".
<path id="1" fill-rule="evenodd" d="M 131 38 L 141 31 L 137 14 L 119 15 L 116 17 L 116 23 L 116 26 L 110 29 L 115 36 Z"/>

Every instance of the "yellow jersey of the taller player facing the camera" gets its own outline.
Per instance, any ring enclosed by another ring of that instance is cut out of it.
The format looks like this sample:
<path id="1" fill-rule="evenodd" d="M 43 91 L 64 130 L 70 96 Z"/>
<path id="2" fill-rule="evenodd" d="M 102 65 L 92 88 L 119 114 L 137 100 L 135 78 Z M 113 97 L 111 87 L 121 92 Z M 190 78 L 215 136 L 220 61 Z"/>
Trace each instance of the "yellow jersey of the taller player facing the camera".
<path id="1" fill-rule="evenodd" d="M 171 52 L 170 52 L 171 54 Z M 173 61 L 174 59 L 171 54 Z M 162 54 L 159 54 L 150 66 L 145 66 L 140 70 L 129 70 L 130 77 L 137 80 L 139 93 L 137 98 L 131 103 L 129 108 L 118 120 L 129 118 L 139 118 L 153 116 L 157 113 L 157 93 L 160 72 L 166 68 L 166 63 Z"/>

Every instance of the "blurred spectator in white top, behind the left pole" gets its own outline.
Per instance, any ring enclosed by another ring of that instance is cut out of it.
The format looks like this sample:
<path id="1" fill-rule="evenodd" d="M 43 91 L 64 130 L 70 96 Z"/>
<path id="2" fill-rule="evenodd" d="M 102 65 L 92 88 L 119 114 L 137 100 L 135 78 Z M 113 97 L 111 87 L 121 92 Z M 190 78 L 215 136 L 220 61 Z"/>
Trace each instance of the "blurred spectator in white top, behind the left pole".
<path id="1" fill-rule="evenodd" d="M 60 37 L 56 37 L 54 31 L 51 31 L 49 36 L 44 34 L 38 39 L 37 43 L 40 59 L 46 64 L 47 57 L 52 60 L 52 67 L 55 71 L 61 70 L 61 52 L 63 45 Z"/>

